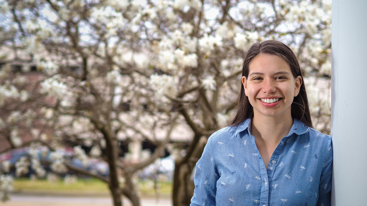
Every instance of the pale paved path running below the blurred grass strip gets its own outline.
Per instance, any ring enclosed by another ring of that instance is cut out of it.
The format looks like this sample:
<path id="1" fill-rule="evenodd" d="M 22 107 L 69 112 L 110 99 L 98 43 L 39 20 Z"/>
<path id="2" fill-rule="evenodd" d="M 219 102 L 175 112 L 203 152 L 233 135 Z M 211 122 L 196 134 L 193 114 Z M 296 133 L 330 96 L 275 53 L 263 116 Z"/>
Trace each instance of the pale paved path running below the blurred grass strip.
<path id="1" fill-rule="evenodd" d="M 11 200 L 1 203 L 4 206 L 113 206 L 108 197 L 59 197 L 59 196 L 30 196 L 11 195 Z M 123 206 L 131 206 L 123 199 Z M 171 199 L 141 199 L 141 206 L 172 206 Z"/>

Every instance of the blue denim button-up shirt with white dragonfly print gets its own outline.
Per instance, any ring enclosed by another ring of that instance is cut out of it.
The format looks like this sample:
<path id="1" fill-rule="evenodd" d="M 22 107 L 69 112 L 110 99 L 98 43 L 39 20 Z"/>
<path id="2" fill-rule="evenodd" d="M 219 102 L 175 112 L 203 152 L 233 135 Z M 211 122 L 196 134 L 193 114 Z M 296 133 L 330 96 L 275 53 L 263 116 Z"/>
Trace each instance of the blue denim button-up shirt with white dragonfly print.
<path id="1" fill-rule="evenodd" d="M 210 136 L 190 206 L 330 205 L 331 137 L 294 119 L 265 168 L 250 122 Z"/>

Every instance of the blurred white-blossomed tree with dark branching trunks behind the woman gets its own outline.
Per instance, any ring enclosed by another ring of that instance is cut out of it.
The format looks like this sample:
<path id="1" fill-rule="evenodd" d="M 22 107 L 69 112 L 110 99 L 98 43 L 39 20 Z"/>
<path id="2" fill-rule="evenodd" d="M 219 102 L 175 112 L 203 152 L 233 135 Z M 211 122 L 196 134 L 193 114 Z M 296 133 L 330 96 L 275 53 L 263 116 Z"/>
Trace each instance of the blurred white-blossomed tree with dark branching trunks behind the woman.
<path id="1" fill-rule="evenodd" d="M 240 58 L 256 40 L 275 38 L 292 46 L 315 126 L 330 131 L 331 1 L 0 2 L 1 138 L 7 149 L 27 145 L 31 151 L 15 165 L 17 175 L 30 165 L 45 176 L 39 158 L 50 151 L 53 172 L 71 169 L 102 179 L 115 206 L 122 204 L 121 194 L 137 206 L 133 174 L 159 158 L 178 125 L 185 125 L 189 147 L 168 148 L 176 161 L 174 206 L 188 205 L 192 170 L 208 136 L 233 114 Z M 29 70 L 37 70 L 37 78 L 25 75 Z M 32 135 L 28 142 L 26 135 Z M 149 140 L 157 149 L 131 162 L 119 156 L 121 139 Z M 62 152 L 65 147 L 73 153 Z M 84 165 L 105 161 L 109 176 L 77 168 L 73 158 Z M 4 161 L 2 194 L 9 190 L 8 171 Z"/>

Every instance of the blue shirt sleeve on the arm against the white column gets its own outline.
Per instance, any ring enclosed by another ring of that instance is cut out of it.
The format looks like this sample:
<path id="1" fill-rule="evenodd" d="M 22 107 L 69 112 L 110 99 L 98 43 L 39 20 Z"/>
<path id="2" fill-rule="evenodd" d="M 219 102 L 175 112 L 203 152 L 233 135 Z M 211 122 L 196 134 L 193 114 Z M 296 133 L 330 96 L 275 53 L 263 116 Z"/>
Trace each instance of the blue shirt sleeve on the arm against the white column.
<path id="1" fill-rule="evenodd" d="M 316 206 L 330 206 L 331 199 L 331 171 L 333 168 L 333 146 L 331 138 L 328 141 L 326 149 L 326 157 L 321 171 L 320 185 L 319 185 L 319 199 Z"/>

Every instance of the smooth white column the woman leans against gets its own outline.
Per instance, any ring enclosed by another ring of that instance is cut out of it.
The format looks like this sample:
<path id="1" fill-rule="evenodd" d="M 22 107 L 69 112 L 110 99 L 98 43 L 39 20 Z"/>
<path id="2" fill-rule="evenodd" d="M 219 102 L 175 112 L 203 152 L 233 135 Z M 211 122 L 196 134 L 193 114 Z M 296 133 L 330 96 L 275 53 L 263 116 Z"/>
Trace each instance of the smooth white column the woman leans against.
<path id="1" fill-rule="evenodd" d="M 366 9 L 366 0 L 333 0 L 332 206 L 367 204 Z"/>

